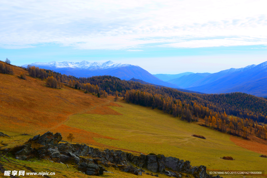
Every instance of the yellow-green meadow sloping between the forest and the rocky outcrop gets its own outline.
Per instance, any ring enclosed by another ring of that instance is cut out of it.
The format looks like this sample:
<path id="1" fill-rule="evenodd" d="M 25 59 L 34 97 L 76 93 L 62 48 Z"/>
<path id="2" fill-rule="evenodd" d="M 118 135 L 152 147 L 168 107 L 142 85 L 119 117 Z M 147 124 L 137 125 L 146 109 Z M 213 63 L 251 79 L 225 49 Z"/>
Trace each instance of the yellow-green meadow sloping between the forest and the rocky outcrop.
<path id="1" fill-rule="evenodd" d="M 98 143 L 144 154 L 173 156 L 189 160 L 193 166 L 205 165 L 209 170 L 267 171 L 267 159 L 235 145 L 226 133 L 182 121 L 160 110 L 125 102 L 118 104 L 123 107 L 110 108 L 122 115 L 74 114 L 65 124 L 117 139 L 95 138 Z M 193 134 L 206 139 L 191 136 Z M 235 160 L 220 159 L 223 156 Z"/>

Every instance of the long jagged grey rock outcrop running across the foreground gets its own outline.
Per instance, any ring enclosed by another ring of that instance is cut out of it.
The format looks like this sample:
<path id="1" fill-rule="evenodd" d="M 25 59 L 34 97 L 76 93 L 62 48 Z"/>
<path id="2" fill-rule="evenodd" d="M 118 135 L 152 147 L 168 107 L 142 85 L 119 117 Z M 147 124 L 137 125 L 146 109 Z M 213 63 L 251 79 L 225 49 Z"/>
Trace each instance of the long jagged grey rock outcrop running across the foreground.
<path id="1" fill-rule="evenodd" d="M 60 143 L 62 139 L 60 133 L 53 135 L 52 132 L 46 132 L 44 135 L 34 136 L 30 141 L 44 145 L 38 148 L 36 156 L 40 158 L 50 159 L 50 161 L 58 163 L 73 162 L 77 164 L 77 169 L 87 175 L 101 175 L 105 171 L 105 167 L 115 167 L 124 172 L 142 175 L 144 170 L 156 173 L 160 172 L 171 177 L 181 177 L 183 173 L 191 174 L 195 178 L 220 178 L 212 177 L 206 173 L 205 166 L 191 166 L 190 161 L 180 160 L 175 157 L 165 157 L 164 155 L 132 155 L 120 150 L 105 149 L 100 151 L 97 148 L 89 147 L 85 144 Z M 16 152 L 16 159 L 25 160 L 33 149 L 31 144 L 22 146 L 22 149 Z M 134 167 L 137 165 L 138 167 Z M 172 171 L 167 171 L 172 170 Z M 151 173 L 151 175 L 153 175 Z M 153 176 L 158 177 L 158 174 Z"/>

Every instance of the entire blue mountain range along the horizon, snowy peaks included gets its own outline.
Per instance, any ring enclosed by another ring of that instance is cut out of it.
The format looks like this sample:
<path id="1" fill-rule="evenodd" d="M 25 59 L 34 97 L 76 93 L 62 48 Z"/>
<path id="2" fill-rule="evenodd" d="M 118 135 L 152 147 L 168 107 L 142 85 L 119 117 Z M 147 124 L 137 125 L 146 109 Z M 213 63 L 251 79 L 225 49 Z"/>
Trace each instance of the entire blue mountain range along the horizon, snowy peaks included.
<path id="1" fill-rule="evenodd" d="M 51 69 L 76 77 L 111 75 L 122 80 L 132 78 L 155 85 L 186 89 L 201 93 L 243 92 L 255 96 L 267 96 L 267 61 L 244 68 L 231 68 L 217 73 L 155 74 L 137 65 L 107 62 L 36 62 L 30 65 Z M 27 65 L 23 65 L 26 67 Z M 158 77 L 158 78 L 157 78 Z M 176 77 L 176 78 L 175 78 Z"/>

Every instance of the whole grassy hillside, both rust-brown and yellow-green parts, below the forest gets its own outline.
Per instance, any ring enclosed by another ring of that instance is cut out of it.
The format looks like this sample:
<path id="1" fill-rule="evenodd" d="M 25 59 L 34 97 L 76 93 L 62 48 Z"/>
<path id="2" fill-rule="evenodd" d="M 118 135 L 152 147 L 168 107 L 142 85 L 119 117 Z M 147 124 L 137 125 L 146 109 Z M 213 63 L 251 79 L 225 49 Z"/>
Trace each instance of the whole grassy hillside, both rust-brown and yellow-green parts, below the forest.
<path id="1" fill-rule="evenodd" d="M 4 84 L 0 86 L 0 132 L 11 136 L 0 138 L 3 141 L 1 149 L 23 144 L 30 137 L 47 131 L 60 132 L 62 140 L 67 141 L 66 136 L 72 132 L 76 137 L 75 142 L 99 149 L 122 149 L 134 154 L 153 152 L 189 160 L 191 165 L 205 165 L 209 170 L 267 171 L 267 159 L 259 157 L 259 153 L 264 153 L 264 142 L 255 144 L 182 121 L 157 109 L 128 104 L 122 98 L 113 102 L 114 97 L 97 98 L 68 86 L 62 89 L 49 88 L 37 78 L 18 78 L 21 71 L 16 67 L 12 76 L 0 74 L 0 83 Z M 193 134 L 205 136 L 206 139 L 192 137 Z M 259 149 L 262 151 L 259 152 Z M 231 156 L 235 160 L 220 159 L 223 156 Z M 42 172 L 46 167 L 61 172 L 58 177 L 85 177 L 73 167 L 66 169 L 65 165 L 57 163 L 52 166 L 46 160 L 36 163 L 15 161 L 37 169 L 36 172 Z M 10 168 L 17 166 L 8 161 L 5 164 Z M 110 173 L 106 176 L 135 177 L 113 169 L 108 168 L 108 171 L 120 175 Z"/>

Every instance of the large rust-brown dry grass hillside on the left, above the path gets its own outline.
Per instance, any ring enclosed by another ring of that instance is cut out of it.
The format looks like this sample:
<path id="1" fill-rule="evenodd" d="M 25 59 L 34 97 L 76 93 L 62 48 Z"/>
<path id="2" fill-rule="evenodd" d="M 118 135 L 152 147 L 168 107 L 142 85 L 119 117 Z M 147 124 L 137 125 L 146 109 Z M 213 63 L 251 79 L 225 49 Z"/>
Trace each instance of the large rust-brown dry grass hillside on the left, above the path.
<path id="1" fill-rule="evenodd" d="M 20 72 L 27 71 L 14 67 L 14 75 L 0 74 L 2 130 L 45 132 L 62 124 L 71 114 L 109 102 L 68 86 L 62 86 L 62 89 L 47 87 L 38 78 L 26 76 L 26 80 L 22 80 L 18 77 Z"/>

